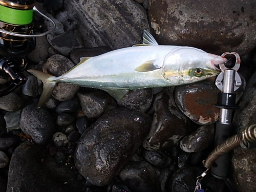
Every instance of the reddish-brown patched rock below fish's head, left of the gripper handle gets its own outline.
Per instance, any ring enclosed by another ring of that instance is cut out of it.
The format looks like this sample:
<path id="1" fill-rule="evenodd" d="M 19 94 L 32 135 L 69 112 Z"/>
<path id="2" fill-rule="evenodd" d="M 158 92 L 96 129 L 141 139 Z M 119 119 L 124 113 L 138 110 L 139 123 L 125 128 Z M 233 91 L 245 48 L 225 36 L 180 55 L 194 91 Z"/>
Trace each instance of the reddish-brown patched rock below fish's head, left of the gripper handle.
<path id="1" fill-rule="evenodd" d="M 214 79 L 179 86 L 175 91 L 175 101 L 179 109 L 197 124 L 211 124 L 218 120 L 220 109 L 217 104 L 219 89 Z"/>

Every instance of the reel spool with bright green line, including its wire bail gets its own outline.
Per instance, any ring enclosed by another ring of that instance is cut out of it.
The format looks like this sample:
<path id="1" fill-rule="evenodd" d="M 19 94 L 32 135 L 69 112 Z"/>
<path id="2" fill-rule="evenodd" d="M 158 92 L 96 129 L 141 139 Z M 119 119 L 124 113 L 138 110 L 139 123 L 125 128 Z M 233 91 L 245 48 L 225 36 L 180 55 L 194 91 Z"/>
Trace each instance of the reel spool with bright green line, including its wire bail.
<path id="1" fill-rule="evenodd" d="M 33 13 L 50 20 L 53 28 L 45 33 L 34 34 Z M 34 0 L 0 0 L 0 55 L 25 56 L 35 48 L 35 37 L 55 29 L 52 19 L 40 13 Z"/>

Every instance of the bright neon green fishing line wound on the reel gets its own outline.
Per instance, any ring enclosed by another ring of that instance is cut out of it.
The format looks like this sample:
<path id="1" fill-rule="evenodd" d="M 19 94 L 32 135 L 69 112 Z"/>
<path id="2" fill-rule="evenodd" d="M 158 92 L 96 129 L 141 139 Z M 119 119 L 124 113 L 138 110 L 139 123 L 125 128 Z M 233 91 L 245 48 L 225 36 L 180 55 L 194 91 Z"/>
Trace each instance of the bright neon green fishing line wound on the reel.
<path id="1" fill-rule="evenodd" d="M 0 5 L 0 20 L 13 25 L 28 25 L 33 20 L 33 9 L 18 10 Z"/>

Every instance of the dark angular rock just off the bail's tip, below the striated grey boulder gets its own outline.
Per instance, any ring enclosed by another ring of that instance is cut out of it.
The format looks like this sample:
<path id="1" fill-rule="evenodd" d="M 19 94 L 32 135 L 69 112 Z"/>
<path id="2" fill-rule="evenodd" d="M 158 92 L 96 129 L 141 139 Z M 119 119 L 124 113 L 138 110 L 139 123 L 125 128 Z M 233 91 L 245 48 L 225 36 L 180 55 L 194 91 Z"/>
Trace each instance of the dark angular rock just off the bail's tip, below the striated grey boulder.
<path id="1" fill-rule="evenodd" d="M 72 30 L 68 30 L 57 36 L 48 34 L 47 39 L 51 46 L 64 56 L 69 56 L 70 52 L 75 48 L 83 47 L 83 44 L 79 41 L 77 34 Z"/>

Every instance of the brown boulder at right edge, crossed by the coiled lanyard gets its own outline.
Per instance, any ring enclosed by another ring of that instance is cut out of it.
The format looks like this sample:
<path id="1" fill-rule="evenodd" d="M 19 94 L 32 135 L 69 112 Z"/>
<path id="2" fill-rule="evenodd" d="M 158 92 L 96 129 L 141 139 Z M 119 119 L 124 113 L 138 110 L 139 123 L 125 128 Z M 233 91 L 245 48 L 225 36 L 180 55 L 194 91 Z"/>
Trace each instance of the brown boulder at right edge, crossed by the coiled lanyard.
<path id="1" fill-rule="evenodd" d="M 238 105 L 240 109 L 234 113 L 233 125 L 238 132 L 252 124 L 256 124 L 256 119 L 253 114 L 256 112 L 256 73 L 249 79 L 246 90 L 240 99 Z M 255 177 L 255 147 L 249 150 L 244 150 L 241 147 L 234 150 L 232 157 L 232 177 L 241 192 L 255 191 L 256 177 Z"/>

